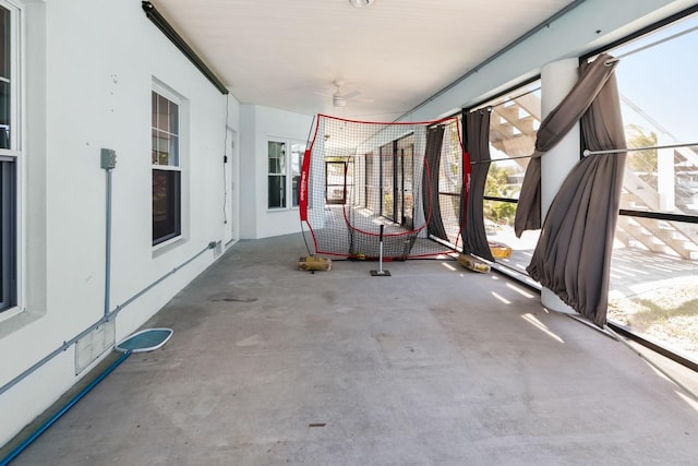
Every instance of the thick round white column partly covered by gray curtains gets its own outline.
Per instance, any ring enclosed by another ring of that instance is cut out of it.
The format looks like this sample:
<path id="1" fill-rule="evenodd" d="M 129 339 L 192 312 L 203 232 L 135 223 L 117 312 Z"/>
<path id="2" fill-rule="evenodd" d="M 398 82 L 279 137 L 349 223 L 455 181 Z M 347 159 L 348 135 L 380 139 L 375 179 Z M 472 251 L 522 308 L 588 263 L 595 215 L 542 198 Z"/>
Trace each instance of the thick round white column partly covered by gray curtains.
<path id="1" fill-rule="evenodd" d="M 579 60 L 565 59 L 545 64 L 541 69 L 541 115 L 545 118 L 567 96 L 579 79 Z M 541 158 L 541 213 L 543 218 L 557 194 L 559 187 L 579 162 L 580 157 L 579 123 Z M 565 304 L 553 291 L 543 288 L 541 302 L 550 310 L 576 313 Z"/>

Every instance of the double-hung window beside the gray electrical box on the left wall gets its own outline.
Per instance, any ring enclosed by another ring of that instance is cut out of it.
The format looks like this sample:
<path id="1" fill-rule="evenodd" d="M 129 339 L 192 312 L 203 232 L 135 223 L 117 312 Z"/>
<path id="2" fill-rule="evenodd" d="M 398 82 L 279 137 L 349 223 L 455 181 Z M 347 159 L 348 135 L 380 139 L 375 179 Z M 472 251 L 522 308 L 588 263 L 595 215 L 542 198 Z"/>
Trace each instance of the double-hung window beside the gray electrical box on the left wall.
<path id="1" fill-rule="evenodd" d="M 156 88 L 152 93 L 153 246 L 182 234 L 180 105 Z"/>

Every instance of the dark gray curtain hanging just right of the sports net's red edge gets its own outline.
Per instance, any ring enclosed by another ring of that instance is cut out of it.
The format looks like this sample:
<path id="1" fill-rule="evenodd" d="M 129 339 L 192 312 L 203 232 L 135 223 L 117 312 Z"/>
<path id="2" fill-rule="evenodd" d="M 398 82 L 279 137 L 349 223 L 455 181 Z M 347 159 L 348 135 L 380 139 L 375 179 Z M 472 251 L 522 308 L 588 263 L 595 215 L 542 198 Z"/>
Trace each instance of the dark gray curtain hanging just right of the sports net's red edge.
<path id="1" fill-rule="evenodd" d="M 484 184 L 490 169 L 490 109 L 473 112 L 464 111 L 462 124 L 466 152 L 470 155 L 470 192 L 464 187 L 466 208 L 465 228 L 462 230 L 462 252 L 479 255 L 482 259 L 494 262 L 488 236 L 484 231 L 483 195 Z M 464 225 L 461 217 L 460 225 Z"/>

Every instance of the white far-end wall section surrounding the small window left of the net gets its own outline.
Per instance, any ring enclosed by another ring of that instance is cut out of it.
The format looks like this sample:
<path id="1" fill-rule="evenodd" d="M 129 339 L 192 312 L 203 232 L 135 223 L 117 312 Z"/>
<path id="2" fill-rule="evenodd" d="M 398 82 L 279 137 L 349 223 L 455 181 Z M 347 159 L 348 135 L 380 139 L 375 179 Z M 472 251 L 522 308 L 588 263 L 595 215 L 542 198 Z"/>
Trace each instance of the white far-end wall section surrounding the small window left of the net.
<path id="1" fill-rule="evenodd" d="M 267 208 L 267 141 L 305 142 L 313 117 L 243 105 L 242 238 L 267 238 L 300 231 L 298 208 Z M 288 204 L 291 204 L 290 192 Z"/>

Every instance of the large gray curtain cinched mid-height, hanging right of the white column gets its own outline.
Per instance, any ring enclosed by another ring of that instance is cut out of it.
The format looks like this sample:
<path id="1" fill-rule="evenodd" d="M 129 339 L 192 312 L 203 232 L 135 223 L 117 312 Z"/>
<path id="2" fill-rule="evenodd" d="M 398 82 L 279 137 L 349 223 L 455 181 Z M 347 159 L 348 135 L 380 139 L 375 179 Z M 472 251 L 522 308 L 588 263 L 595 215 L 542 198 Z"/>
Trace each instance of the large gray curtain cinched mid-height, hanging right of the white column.
<path id="1" fill-rule="evenodd" d="M 606 67 L 609 58 L 599 57 L 594 64 Z M 581 131 L 590 151 L 627 147 L 615 75 L 582 116 Z M 574 167 L 551 204 L 527 267 L 532 278 L 599 326 L 606 321 L 625 158 L 626 153 L 590 155 Z"/>

